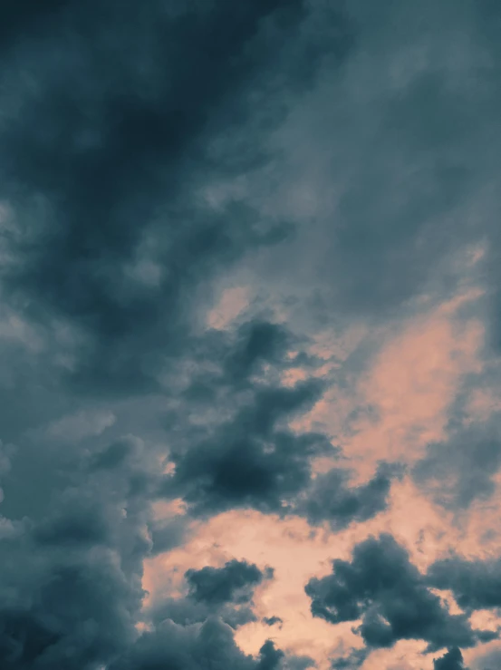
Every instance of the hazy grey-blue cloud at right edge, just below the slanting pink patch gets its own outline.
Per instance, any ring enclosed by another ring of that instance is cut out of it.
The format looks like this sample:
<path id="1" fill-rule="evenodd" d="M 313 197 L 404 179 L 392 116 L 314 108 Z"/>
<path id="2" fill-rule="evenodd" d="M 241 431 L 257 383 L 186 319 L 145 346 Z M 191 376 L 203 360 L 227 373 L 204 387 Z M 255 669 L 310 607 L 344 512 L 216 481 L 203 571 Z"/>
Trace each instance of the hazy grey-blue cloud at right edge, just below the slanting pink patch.
<path id="1" fill-rule="evenodd" d="M 488 422 L 453 427 L 447 440 L 430 443 L 412 474 L 439 504 L 461 510 L 492 496 L 500 467 L 501 435 L 495 413 Z"/>

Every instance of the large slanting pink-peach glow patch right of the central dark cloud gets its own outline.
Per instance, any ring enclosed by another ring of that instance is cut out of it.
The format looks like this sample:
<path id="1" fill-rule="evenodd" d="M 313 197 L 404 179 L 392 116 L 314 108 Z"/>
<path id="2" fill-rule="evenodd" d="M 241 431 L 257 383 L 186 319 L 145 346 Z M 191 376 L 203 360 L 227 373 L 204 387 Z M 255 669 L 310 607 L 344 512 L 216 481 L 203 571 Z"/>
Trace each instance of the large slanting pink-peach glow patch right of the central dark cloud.
<path id="1" fill-rule="evenodd" d="M 481 371 L 477 353 L 484 327 L 477 318 L 455 319 L 459 307 L 479 296 L 472 290 L 382 335 L 379 353 L 353 381 L 351 395 L 332 388 L 294 427 L 325 427 L 363 469 L 380 459 L 418 459 L 428 442 L 444 438 L 448 408 L 462 378 Z M 375 418 L 352 422 L 354 434 L 346 434 L 350 414 L 366 406 Z"/>

